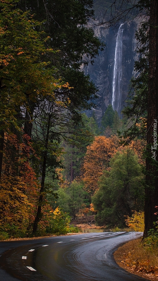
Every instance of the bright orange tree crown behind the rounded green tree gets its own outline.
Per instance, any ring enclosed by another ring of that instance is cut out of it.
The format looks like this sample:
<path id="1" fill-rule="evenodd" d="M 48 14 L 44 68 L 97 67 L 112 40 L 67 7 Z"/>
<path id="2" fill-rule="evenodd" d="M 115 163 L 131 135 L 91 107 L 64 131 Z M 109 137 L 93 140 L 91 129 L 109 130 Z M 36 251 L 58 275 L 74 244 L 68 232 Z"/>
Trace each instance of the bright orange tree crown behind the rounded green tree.
<path id="1" fill-rule="evenodd" d="M 84 183 L 88 192 L 94 193 L 98 189 L 98 179 L 103 170 L 109 166 L 109 161 L 119 147 L 116 136 L 107 138 L 105 136 L 95 137 L 93 143 L 87 147 L 84 157 Z"/>

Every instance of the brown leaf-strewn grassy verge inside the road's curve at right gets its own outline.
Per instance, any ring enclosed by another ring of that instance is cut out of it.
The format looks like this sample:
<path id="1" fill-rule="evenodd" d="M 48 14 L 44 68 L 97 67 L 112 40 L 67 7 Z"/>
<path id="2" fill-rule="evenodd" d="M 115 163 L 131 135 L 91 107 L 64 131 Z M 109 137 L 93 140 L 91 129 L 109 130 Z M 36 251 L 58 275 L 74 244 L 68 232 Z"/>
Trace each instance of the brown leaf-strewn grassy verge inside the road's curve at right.
<path id="1" fill-rule="evenodd" d="M 131 269 L 137 273 L 158 276 L 158 244 L 150 243 L 149 239 L 135 239 L 119 247 L 114 253 L 114 258 L 119 266 Z"/>

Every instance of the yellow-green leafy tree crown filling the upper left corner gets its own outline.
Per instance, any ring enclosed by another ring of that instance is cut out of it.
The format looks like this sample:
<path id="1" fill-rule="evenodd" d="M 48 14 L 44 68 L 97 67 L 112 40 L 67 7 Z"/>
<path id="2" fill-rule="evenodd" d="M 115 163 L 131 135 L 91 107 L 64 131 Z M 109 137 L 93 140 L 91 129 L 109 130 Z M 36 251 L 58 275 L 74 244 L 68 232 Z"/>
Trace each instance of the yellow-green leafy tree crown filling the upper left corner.
<path id="1" fill-rule="evenodd" d="M 1 170 L 4 133 L 12 130 L 20 135 L 26 115 L 31 127 L 30 102 L 35 103 L 45 92 L 50 93 L 57 81 L 53 78 L 54 70 L 49 68 L 49 59 L 55 52 L 45 46 L 48 38 L 40 30 L 42 23 L 28 11 L 17 8 L 18 3 L 12 0 L 0 3 Z"/>

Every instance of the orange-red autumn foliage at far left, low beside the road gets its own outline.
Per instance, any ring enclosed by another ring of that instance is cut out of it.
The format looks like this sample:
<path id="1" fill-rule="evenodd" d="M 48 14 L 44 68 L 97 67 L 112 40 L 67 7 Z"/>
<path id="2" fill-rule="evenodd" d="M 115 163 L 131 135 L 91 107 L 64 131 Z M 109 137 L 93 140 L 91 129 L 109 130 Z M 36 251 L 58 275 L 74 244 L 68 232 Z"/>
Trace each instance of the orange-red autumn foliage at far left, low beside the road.
<path id="1" fill-rule="evenodd" d="M 34 219 L 39 187 L 29 163 L 31 152 L 28 136 L 22 142 L 14 134 L 5 136 L 0 186 L 0 226 L 4 228 L 13 224 L 28 228 Z"/>

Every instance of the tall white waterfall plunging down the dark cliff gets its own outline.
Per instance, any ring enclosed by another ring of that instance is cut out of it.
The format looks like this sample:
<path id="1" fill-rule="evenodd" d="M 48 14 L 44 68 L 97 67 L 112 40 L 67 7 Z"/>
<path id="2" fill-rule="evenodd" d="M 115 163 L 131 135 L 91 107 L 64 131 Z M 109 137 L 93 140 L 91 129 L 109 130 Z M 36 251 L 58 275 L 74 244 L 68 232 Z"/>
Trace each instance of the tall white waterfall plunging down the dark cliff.
<path id="1" fill-rule="evenodd" d="M 113 74 L 113 98 L 112 106 L 113 110 L 116 110 L 118 114 L 121 114 L 121 101 L 122 101 L 122 34 L 123 25 L 121 24 L 116 38 L 115 47 L 115 63 L 114 63 L 114 74 Z"/>

